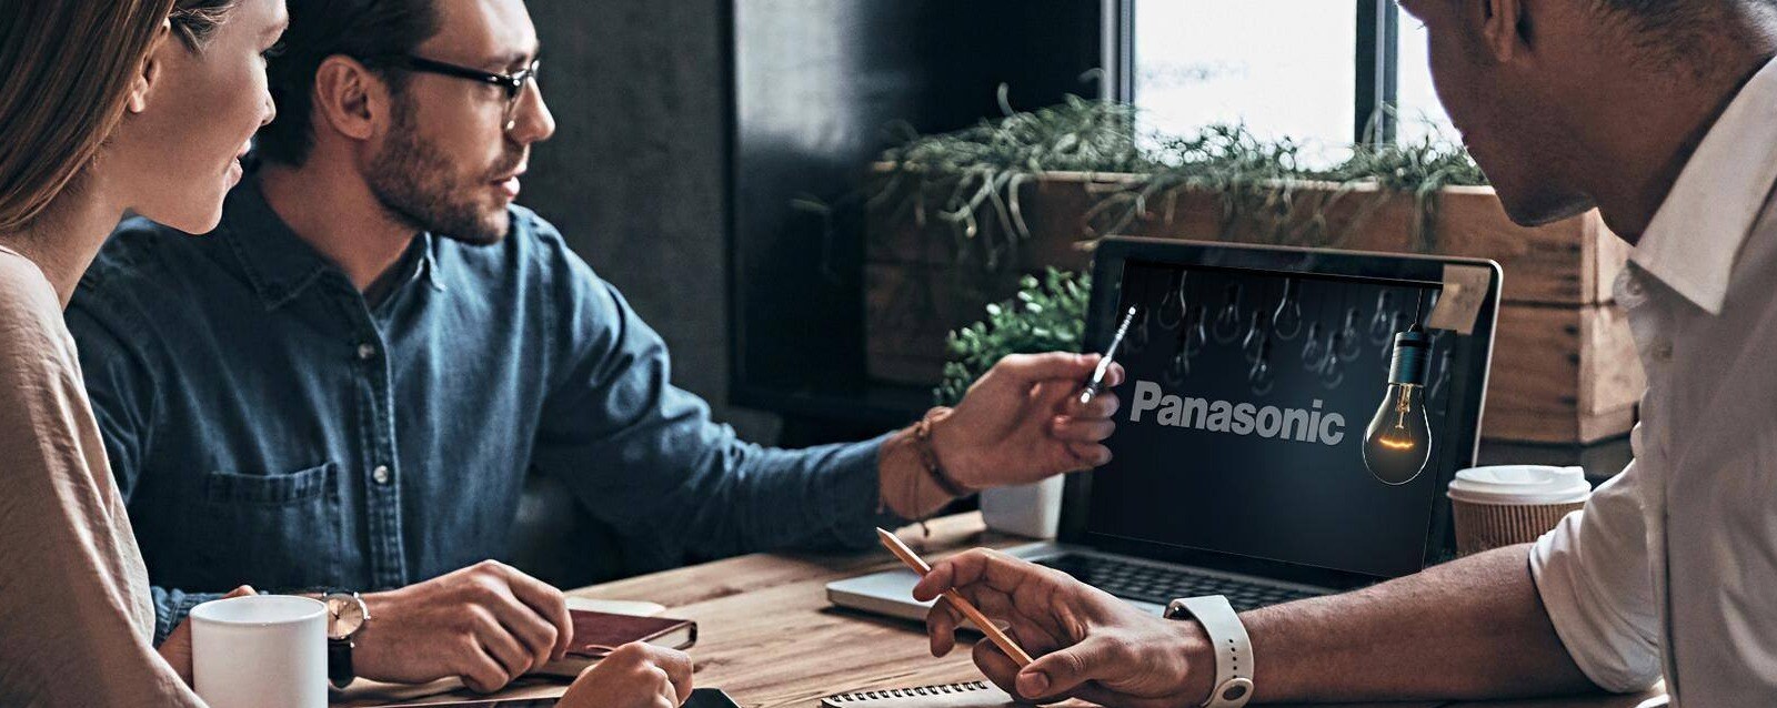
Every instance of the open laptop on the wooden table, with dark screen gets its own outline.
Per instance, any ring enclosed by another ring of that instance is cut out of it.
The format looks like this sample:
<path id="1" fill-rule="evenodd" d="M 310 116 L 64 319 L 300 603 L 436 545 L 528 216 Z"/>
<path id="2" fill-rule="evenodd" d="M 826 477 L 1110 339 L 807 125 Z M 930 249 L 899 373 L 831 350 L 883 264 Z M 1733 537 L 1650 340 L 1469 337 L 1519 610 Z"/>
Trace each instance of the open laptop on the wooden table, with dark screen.
<path id="1" fill-rule="evenodd" d="M 1500 282 L 1480 259 L 1100 241 L 1086 350 L 1104 351 L 1137 311 L 1118 353 L 1112 460 L 1066 477 L 1054 541 L 1008 552 L 1153 612 L 1199 594 L 1246 610 L 1342 593 L 1450 557 L 1443 490 L 1475 463 Z M 1414 477 L 1384 481 L 1363 445 L 1393 337 L 1445 295 L 1473 316 L 1468 334 L 1429 330 L 1430 451 Z M 883 571 L 826 596 L 924 619 L 913 582 Z"/>

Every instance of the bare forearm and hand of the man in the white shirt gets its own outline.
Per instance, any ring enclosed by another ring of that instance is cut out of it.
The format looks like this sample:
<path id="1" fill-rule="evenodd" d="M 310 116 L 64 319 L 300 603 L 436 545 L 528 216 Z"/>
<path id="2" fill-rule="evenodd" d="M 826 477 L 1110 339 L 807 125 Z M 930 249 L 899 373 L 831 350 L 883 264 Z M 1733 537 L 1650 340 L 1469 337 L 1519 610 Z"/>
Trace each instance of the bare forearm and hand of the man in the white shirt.
<path id="1" fill-rule="evenodd" d="M 1363 591 L 1242 614 L 1256 701 L 1505 697 L 1596 690 L 1550 623 L 1528 547 L 1498 548 Z M 992 644 L 976 662 L 1027 697 L 1077 696 L 1111 706 L 1199 704 L 1215 658 L 1201 628 L 1166 621 L 1072 577 L 974 550 L 936 564 L 915 596 L 956 587 L 1011 623 L 1040 658 L 1018 671 Z M 935 653 L 960 616 L 929 616 Z"/>

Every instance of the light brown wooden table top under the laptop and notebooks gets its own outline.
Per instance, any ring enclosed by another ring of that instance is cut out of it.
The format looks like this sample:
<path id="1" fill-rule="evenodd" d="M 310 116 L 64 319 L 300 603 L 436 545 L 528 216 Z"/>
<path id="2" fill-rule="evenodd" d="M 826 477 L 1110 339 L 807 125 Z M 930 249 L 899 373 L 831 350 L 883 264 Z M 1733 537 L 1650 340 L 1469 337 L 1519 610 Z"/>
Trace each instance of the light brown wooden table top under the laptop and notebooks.
<path id="1" fill-rule="evenodd" d="M 972 547 L 1009 547 L 1024 539 L 990 534 L 979 515 L 958 515 L 901 538 L 928 559 Z M 695 619 L 691 648 L 698 687 L 718 687 L 748 708 L 814 708 L 823 696 L 931 683 L 974 681 L 967 646 L 945 658 L 926 649 L 924 628 L 901 619 L 837 609 L 826 584 L 897 568 L 885 550 L 867 554 L 753 554 L 570 591 L 601 600 L 647 600 L 668 616 Z M 560 685 L 530 683 L 494 697 L 560 696 Z M 1498 708 L 1635 708 L 1647 696 L 1599 696 L 1558 701 L 1468 703 Z M 1398 708 L 1459 703 L 1391 703 Z"/>

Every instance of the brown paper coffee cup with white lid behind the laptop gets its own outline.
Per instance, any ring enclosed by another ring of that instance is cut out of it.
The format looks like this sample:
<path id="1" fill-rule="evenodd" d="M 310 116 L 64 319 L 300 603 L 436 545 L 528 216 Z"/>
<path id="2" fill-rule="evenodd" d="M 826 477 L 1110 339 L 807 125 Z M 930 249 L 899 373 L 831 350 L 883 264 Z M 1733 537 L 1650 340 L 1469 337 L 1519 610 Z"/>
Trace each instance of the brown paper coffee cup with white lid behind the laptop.
<path id="1" fill-rule="evenodd" d="M 1459 555 L 1535 541 L 1578 511 L 1592 484 L 1578 467 L 1473 467 L 1450 481 Z"/>

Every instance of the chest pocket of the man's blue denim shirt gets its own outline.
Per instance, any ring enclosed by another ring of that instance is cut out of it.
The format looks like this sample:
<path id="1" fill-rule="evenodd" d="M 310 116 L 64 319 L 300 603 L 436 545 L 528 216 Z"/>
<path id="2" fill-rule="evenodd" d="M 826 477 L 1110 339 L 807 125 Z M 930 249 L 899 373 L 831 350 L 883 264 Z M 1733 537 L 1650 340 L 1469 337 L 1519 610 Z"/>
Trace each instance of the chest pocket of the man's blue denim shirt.
<path id="1" fill-rule="evenodd" d="M 341 575 L 345 504 L 339 465 L 284 474 L 211 470 L 204 476 L 208 536 L 201 559 L 258 589 L 313 587 Z"/>

